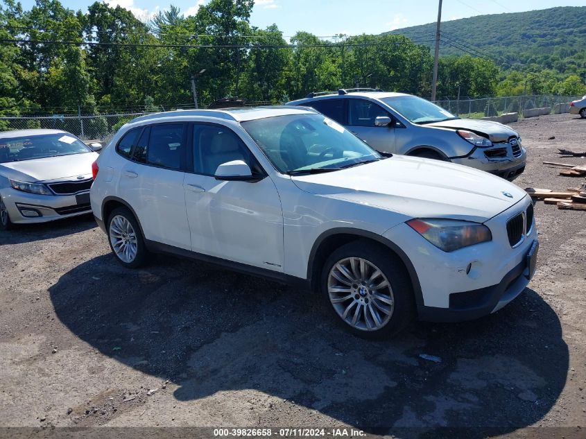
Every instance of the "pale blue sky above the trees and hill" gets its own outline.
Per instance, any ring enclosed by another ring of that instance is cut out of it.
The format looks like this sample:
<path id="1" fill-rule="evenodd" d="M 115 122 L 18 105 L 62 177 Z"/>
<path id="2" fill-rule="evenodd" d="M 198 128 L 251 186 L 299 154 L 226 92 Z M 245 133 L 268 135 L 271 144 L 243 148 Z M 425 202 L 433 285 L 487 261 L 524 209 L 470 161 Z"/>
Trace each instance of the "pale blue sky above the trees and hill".
<path id="1" fill-rule="evenodd" d="M 61 0 L 71 9 L 85 10 L 94 0 Z M 172 3 L 188 15 L 209 0 L 106 0 L 141 19 Z M 21 0 L 28 9 L 34 0 Z M 442 21 L 474 15 L 501 14 L 553 6 L 586 6 L 586 0 L 444 0 Z M 437 0 L 256 0 L 250 23 L 265 28 L 275 23 L 284 35 L 308 31 L 315 35 L 381 33 L 436 21 Z M 506 31 L 506 30 L 505 30 Z"/>

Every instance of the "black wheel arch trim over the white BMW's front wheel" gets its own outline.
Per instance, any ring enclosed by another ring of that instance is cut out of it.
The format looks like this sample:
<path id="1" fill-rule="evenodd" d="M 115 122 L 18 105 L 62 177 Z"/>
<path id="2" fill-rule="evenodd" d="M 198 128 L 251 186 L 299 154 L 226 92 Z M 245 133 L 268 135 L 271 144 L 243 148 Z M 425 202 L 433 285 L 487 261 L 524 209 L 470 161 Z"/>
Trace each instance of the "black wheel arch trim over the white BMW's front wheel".
<path id="1" fill-rule="evenodd" d="M 313 243 L 307 264 L 307 280 L 311 285 L 311 290 L 317 291 L 321 268 L 327 257 L 331 255 L 331 252 L 336 250 L 336 248 L 340 248 L 347 243 L 359 239 L 367 240 L 377 246 L 384 247 L 385 250 L 390 250 L 395 256 L 397 256 L 399 261 L 402 262 L 403 267 L 411 280 L 413 295 L 415 296 L 415 304 L 417 304 L 417 307 L 423 306 L 423 295 L 419 277 L 417 276 L 417 272 L 415 271 L 411 259 L 408 258 L 405 252 L 401 250 L 397 244 L 389 241 L 384 236 L 366 230 L 354 229 L 352 227 L 338 227 L 327 230 L 320 234 L 315 243 Z"/>

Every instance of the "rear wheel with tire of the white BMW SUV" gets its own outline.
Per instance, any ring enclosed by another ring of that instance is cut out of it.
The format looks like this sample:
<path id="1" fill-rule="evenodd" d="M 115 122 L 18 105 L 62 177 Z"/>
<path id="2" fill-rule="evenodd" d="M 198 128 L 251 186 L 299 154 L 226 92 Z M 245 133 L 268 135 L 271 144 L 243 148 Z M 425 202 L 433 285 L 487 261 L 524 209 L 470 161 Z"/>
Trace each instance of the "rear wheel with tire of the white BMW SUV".
<path id="1" fill-rule="evenodd" d="M 125 267 L 138 268 L 147 250 L 135 216 L 127 207 L 117 207 L 107 222 L 108 242 L 116 259 Z"/>

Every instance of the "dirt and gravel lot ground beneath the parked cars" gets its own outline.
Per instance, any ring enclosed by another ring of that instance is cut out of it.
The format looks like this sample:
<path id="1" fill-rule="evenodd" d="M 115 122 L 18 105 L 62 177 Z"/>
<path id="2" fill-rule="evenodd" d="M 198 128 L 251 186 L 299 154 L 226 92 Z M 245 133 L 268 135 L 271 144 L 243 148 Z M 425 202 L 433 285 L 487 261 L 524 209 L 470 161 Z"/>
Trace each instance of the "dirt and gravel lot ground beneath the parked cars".
<path id="1" fill-rule="evenodd" d="M 513 126 L 528 150 L 519 186 L 583 182 L 542 161 L 586 162 L 556 154 L 586 149 L 586 120 Z M 1 234 L 0 427 L 584 438 L 586 212 L 537 203 L 535 214 L 540 261 L 517 300 L 474 322 L 415 322 L 377 343 L 341 331 L 293 287 L 163 256 L 126 270 L 91 217 Z"/>

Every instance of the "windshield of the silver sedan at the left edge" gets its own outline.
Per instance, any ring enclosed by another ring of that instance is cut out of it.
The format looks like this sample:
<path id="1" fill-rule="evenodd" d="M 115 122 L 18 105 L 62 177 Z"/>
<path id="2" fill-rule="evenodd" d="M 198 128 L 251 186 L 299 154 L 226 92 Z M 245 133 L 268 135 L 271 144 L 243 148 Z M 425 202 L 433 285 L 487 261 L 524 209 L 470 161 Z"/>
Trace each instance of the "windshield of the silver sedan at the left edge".
<path id="1" fill-rule="evenodd" d="M 0 139 L 0 163 L 91 152 L 83 141 L 65 132 Z"/>

